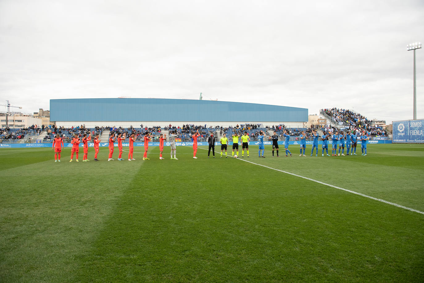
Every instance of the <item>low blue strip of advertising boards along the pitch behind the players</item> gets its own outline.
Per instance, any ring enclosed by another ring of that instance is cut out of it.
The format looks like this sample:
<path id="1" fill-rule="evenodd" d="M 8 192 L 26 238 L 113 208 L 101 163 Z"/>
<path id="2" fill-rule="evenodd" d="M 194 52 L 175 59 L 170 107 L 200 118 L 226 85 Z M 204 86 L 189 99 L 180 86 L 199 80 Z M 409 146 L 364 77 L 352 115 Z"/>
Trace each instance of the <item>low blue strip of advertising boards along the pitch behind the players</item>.
<path id="1" fill-rule="evenodd" d="M 384 144 L 384 143 L 392 143 L 391 140 L 369 140 L 368 143 L 378 143 L 378 144 Z M 193 142 L 176 142 L 175 143 L 176 146 L 193 146 Z M 232 146 L 232 142 L 229 142 L 228 145 Z M 259 144 L 259 142 L 249 142 L 250 146 L 257 146 Z M 265 146 L 271 146 L 272 142 L 271 141 L 265 141 L 264 142 Z M 284 141 L 279 141 L 278 142 L 279 145 L 284 145 Z M 289 141 L 290 145 L 300 145 L 300 141 L 297 140 L 290 140 Z M 312 141 L 307 141 L 306 142 L 307 145 L 312 145 Z M 322 142 L 320 141 L 319 144 L 321 145 Z M 332 144 L 332 141 L 329 140 L 328 144 Z M 0 143 L 0 149 L 5 149 L 5 148 L 51 148 L 52 147 L 52 143 Z M 109 143 L 100 143 L 99 146 L 100 147 L 106 147 L 108 146 Z M 209 143 L 207 142 L 197 142 L 198 146 L 208 146 Z M 220 146 L 221 144 L 219 142 L 215 143 L 215 146 Z M 239 145 L 241 146 L 241 143 L 239 143 Z M 89 143 L 89 147 L 93 147 L 94 143 Z M 117 147 L 118 143 L 114 143 L 114 146 Z M 122 146 L 124 147 L 128 147 L 129 143 L 122 143 Z M 135 142 L 134 146 L 144 146 L 144 142 Z M 151 142 L 149 143 L 149 146 L 159 146 L 159 142 Z M 170 146 L 170 142 L 166 142 L 164 143 L 164 146 Z M 345 145 L 346 146 L 346 145 Z M 72 147 L 72 143 L 64 143 L 64 148 L 71 148 Z M 83 147 L 82 144 L 80 144 L 80 147 Z"/>

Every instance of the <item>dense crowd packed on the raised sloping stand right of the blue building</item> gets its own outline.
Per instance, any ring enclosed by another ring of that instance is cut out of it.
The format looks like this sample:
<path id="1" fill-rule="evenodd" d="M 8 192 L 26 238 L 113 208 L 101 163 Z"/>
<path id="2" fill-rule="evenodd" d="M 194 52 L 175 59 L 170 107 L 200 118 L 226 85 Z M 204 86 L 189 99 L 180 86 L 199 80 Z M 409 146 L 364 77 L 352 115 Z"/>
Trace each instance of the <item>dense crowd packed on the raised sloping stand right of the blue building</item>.
<path id="1" fill-rule="evenodd" d="M 352 132 L 366 132 L 368 135 L 377 136 L 387 134 L 382 126 L 372 126 L 372 120 L 368 120 L 365 116 L 356 113 L 349 109 L 322 109 L 322 111 L 335 119 L 338 122 L 344 122 L 348 126 L 346 129 L 351 130 Z"/>

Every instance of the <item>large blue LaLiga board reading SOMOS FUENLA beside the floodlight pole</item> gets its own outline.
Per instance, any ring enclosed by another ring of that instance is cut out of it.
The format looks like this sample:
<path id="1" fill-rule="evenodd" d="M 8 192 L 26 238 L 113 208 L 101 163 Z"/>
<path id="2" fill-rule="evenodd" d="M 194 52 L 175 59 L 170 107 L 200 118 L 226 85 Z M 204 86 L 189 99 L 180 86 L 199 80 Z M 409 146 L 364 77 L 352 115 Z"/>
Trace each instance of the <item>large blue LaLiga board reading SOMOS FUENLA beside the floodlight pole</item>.
<path id="1" fill-rule="evenodd" d="M 393 143 L 424 143 L 424 120 L 393 121 Z"/>

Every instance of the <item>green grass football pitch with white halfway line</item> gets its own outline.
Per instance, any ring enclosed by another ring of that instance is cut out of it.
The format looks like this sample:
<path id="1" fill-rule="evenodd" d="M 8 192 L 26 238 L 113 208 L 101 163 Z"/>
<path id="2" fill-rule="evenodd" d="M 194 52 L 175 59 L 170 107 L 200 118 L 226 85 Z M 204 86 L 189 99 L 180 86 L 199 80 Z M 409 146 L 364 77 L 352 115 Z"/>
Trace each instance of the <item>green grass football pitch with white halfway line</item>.
<path id="1" fill-rule="evenodd" d="M 54 163 L 52 149 L 1 149 L 0 282 L 424 281 L 423 214 L 270 169 L 424 211 L 422 145 L 252 146 L 251 163 L 158 150 Z"/>

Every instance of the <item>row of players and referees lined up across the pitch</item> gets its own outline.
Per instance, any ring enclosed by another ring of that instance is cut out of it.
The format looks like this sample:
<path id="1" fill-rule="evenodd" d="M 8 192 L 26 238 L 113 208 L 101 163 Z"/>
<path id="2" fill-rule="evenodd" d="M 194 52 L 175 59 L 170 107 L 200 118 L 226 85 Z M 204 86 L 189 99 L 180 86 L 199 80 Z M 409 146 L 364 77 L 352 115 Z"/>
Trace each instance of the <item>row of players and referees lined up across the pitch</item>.
<path id="1" fill-rule="evenodd" d="M 290 135 L 288 134 L 287 131 L 284 131 L 283 136 L 285 137 L 285 152 L 286 155 L 285 157 L 288 157 L 290 154 L 290 157 L 292 156 L 292 153 L 290 152 L 290 150 L 288 149 L 289 147 L 289 140 L 290 140 Z M 175 131 L 173 131 L 170 134 L 170 148 L 171 148 L 171 159 L 173 160 L 178 160 L 178 158 L 176 157 L 176 144 L 175 144 L 175 139 L 177 137 L 177 134 Z M 196 157 L 196 153 L 197 153 L 197 138 L 200 137 L 199 132 L 197 131 L 195 134 L 192 135 L 193 138 L 193 158 L 197 159 Z M 232 139 L 233 139 L 233 150 L 232 150 L 232 157 L 238 157 L 239 155 L 239 150 L 238 150 L 238 139 L 240 137 L 240 134 L 233 134 L 232 135 Z M 264 137 L 265 137 L 265 133 L 263 131 L 259 132 L 259 137 L 258 137 L 258 145 L 259 145 L 259 151 L 258 151 L 258 157 L 264 157 L 264 153 L 265 153 L 265 146 L 264 146 Z M 303 156 L 305 155 L 305 150 L 306 150 L 306 139 L 307 139 L 307 135 L 305 134 L 305 132 L 301 132 L 300 135 L 300 141 L 301 141 L 301 145 L 300 145 L 300 154 L 299 156 L 302 156 L 302 149 L 303 149 Z M 312 151 L 311 151 L 311 155 L 313 155 L 313 151 L 314 149 L 316 149 L 316 154 L 315 156 L 318 156 L 318 139 L 319 136 L 317 134 L 317 132 L 313 131 L 311 136 L 313 138 L 312 141 Z M 359 133 L 357 134 L 351 134 L 351 132 L 349 131 L 347 134 L 345 134 L 344 132 L 341 134 L 338 134 L 338 132 L 335 132 L 335 134 L 331 134 L 328 133 L 326 134 L 326 132 L 323 133 L 323 135 L 321 136 L 321 140 L 322 140 L 322 156 L 324 156 L 324 150 L 326 150 L 326 155 L 329 156 L 328 154 L 328 140 L 331 137 L 332 139 L 332 156 L 337 156 L 337 145 L 339 142 L 339 153 L 338 155 L 340 156 L 340 150 L 342 151 L 341 155 L 344 155 L 344 149 L 345 149 L 345 140 L 346 140 L 346 154 L 349 155 L 349 151 L 351 150 L 351 155 L 357 155 L 356 154 L 356 145 L 357 145 L 357 140 L 361 141 L 361 150 L 362 150 L 362 155 L 367 155 L 367 140 L 368 137 L 365 135 L 365 132 L 362 133 L 362 135 L 360 135 Z M 276 154 L 277 157 L 279 157 L 279 146 L 278 146 L 278 135 L 276 134 L 276 132 L 273 132 L 272 136 L 268 137 L 270 140 L 272 140 L 272 157 L 274 157 L 274 150 L 276 150 Z M 123 153 L 123 146 L 122 146 L 122 142 L 123 140 L 126 139 L 126 133 L 122 134 L 122 133 L 117 133 L 117 137 L 115 137 L 115 133 L 112 133 L 109 137 L 109 159 L 108 161 L 114 160 L 112 159 L 112 155 L 114 152 L 114 143 L 117 141 L 118 142 L 118 150 L 119 150 L 119 155 L 118 155 L 118 160 L 124 160 L 122 158 L 122 153 Z M 151 138 L 151 132 L 145 132 L 145 136 L 144 136 L 144 154 L 143 154 L 143 160 L 150 160 L 147 157 L 147 153 L 148 153 L 148 147 L 149 147 L 149 142 L 152 140 Z M 164 141 L 166 140 L 166 134 L 160 134 L 159 137 L 159 159 L 165 159 L 162 157 L 162 152 L 164 149 Z M 241 140 L 242 140 L 242 157 L 244 157 L 244 153 L 246 151 L 247 153 L 247 157 L 249 157 L 249 141 L 250 141 L 250 137 L 248 136 L 247 132 L 244 132 L 244 134 L 241 136 Z M 86 134 L 83 135 L 82 138 L 82 142 L 84 144 L 83 146 L 83 150 L 84 150 L 84 155 L 83 155 L 83 162 L 86 161 L 90 161 L 88 160 L 88 143 L 89 141 L 91 141 L 91 134 L 87 137 Z M 131 160 L 135 160 L 133 158 L 133 152 L 134 152 L 134 141 L 135 141 L 135 133 L 132 133 L 129 137 L 129 151 L 128 151 L 128 161 Z M 73 157 L 74 154 L 76 155 L 76 162 L 78 161 L 78 151 L 79 151 L 79 143 L 80 143 L 80 138 L 78 137 L 78 134 L 75 134 L 75 136 L 73 137 L 71 144 L 72 149 L 71 149 L 71 160 L 70 162 L 73 161 Z M 99 134 L 95 135 L 94 138 L 94 160 L 95 161 L 99 161 L 97 159 L 97 155 L 99 152 L 99 144 L 100 144 L 101 140 L 99 138 Z M 208 138 L 208 143 L 209 143 L 209 151 L 208 151 L 208 158 L 210 155 L 210 151 L 212 149 L 212 154 L 213 157 L 215 158 L 215 137 L 213 137 L 213 133 L 211 134 L 211 136 Z M 221 143 L 221 158 L 223 155 L 223 151 L 225 151 L 225 157 L 227 158 L 227 144 L 228 144 L 228 138 L 226 137 L 226 134 L 223 134 L 223 137 L 220 139 L 220 143 Z M 55 151 L 55 162 L 60 162 L 60 155 L 61 155 L 61 149 L 63 148 L 64 143 L 61 137 L 59 137 L 59 134 L 56 134 L 56 137 L 53 140 L 53 150 Z M 234 151 L 236 151 L 236 154 L 234 154 Z M 262 151 L 262 155 L 261 155 L 261 151 Z"/>

